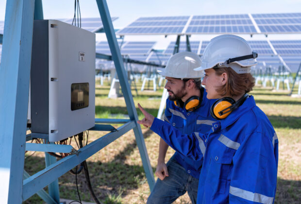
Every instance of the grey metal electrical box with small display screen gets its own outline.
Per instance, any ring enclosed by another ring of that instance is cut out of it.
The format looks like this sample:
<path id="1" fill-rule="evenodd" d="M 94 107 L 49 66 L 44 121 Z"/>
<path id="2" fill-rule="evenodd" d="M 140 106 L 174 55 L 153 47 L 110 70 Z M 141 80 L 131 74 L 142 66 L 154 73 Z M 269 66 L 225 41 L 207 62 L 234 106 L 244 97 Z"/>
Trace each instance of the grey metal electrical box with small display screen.
<path id="1" fill-rule="evenodd" d="M 95 34 L 58 20 L 35 20 L 29 119 L 50 142 L 95 124 Z"/>

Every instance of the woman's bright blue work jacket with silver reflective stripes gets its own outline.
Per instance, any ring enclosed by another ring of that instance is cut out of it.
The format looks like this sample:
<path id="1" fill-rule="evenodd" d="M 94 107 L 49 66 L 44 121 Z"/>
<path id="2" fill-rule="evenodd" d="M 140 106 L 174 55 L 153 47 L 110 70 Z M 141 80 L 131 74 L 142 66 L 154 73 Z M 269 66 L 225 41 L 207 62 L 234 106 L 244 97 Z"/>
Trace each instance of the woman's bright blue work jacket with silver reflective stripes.
<path id="1" fill-rule="evenodd" d="M 183 135 L 158 119 L 151 130 L 176 151 L 204 159 L 198 204 L 274 203 L 278 138 L 252 96 L 207 134 Z"/>

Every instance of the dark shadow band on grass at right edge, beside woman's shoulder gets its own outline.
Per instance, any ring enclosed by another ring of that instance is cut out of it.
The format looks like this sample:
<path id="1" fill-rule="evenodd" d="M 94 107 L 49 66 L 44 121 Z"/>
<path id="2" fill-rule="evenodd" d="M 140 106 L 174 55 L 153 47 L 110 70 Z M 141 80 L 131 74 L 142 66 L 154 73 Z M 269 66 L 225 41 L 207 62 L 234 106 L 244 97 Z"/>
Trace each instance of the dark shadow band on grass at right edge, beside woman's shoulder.
<path id="1" fill-rule="evenodd" d="M 272 123 L 274 128 L 301 128 L 301 117 L 269 115 L 268 119 Z"/>

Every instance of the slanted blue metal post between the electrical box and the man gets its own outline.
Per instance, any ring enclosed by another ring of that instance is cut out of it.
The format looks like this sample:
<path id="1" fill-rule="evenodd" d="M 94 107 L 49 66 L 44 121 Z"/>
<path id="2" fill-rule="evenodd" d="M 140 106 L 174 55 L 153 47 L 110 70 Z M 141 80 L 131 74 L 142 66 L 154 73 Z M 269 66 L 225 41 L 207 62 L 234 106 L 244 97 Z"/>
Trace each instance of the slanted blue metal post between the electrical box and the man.
<path id="1" fill-rule="evenodd" d="M 127 105 L 127 110 L 130 116 L 130 119 L 134 121 L 135 127 L 134 127 L 134 134 L 136 137 L 137 146 L 141 155 L 144 171 L 146 173 L 146 177 L 148 179 L 148 183 L 150 186 L 150 189 L 152 190 L 155 180 L 153 177 L 153 172 L 151 169 L 151 163 L 150 159 L 146 150 L 144 138 L 142 135 L 141 127 L 137 123 L 138 115 L 135 109 L 134 100 L 132 96 L 132 92 L 130 89 L 130 85 L 128 83 L 127 74 L 125 72 L 124 66 L 123 66 L 123 60 L 121 57 L 121 53 L 118 47 L 115 31 L 113 28 L 112 20 L 110 17 L 108 5 L 105 0 L 96 0 L 98 9 L 100 12 L 100 17 L 102 20 L 103 28 L 106 34 L 106 37 L 108 39 L 109 47 L 112 53 L 112 58 L 114 60 L 114 64 L 117 70 L 119 82 L 121 85 L 122 93 Z"/>

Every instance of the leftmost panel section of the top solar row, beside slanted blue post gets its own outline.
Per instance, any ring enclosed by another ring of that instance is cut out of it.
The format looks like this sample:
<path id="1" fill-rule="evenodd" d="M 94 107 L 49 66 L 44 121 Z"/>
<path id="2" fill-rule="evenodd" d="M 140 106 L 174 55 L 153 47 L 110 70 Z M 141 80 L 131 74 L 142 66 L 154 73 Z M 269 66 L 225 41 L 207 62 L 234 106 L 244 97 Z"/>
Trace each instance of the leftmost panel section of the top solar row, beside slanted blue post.
<path id="1" fill-rule="evenodd" d="M 181 34 L 188 18 L 188 16 L 140 17 L 116 34 Z"/>

